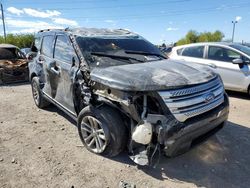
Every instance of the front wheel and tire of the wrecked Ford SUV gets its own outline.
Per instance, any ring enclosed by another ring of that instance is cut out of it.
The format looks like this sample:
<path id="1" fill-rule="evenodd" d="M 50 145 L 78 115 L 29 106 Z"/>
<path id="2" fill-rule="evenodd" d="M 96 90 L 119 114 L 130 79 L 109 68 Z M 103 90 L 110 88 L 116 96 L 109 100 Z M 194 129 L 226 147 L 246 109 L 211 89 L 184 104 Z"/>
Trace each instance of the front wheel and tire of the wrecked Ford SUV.
<path id="1" fill-rule="evenodd" d="M 109 106 L 87 106 L 80 112 L 77 126 L 82 143 L 92 153 L 114 157 L 127 145 L 122 117 Z"/>

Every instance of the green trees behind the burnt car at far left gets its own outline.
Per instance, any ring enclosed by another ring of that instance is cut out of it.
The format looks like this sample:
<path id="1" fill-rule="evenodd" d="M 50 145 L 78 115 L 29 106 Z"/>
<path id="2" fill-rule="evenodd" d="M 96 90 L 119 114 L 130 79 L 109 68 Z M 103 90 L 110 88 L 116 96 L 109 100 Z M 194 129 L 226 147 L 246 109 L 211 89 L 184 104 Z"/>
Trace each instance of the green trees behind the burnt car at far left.
<path id="1" fill-rule="evenodd" d="M 8 34 L 6 36 L 6 42 L 4 40 L 4 37 L 0 36 L 0 44 L 13 44 L 19 48 L 29 48 L 33 41 L 33 34 Z"/>

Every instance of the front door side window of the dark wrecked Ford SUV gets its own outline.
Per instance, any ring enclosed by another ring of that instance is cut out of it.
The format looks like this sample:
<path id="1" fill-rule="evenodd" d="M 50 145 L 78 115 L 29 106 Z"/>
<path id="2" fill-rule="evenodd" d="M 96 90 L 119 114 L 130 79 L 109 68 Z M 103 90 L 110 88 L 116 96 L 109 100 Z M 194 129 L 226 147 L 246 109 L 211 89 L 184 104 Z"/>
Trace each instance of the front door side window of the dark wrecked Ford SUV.
<path id="1" fill-rule="evenodd" d="M 54 58 L 71 64 L 72 57 L 76 58 L 76 55 L 68 38 L 64 35 L 58 35 L 56 38 Z"/>

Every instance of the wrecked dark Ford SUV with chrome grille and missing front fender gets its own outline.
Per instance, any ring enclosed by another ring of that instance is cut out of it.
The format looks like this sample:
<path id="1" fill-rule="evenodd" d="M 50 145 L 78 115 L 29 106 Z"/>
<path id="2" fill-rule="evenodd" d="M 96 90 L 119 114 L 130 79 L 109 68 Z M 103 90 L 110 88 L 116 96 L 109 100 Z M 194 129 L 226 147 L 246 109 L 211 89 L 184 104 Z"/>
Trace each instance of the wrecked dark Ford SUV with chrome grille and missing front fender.
<path id="1" fill-rule="evenodd" d="M 229 101 L 220 77 L 166 59 L 127 30 L 43 30 L 29 63 L 35 104 L 53 103 L 77 121 L 86 148 L 137 164 L 176 156 L 219 130 Z M 154 159 L 154 160 L 153 160 Z"/>

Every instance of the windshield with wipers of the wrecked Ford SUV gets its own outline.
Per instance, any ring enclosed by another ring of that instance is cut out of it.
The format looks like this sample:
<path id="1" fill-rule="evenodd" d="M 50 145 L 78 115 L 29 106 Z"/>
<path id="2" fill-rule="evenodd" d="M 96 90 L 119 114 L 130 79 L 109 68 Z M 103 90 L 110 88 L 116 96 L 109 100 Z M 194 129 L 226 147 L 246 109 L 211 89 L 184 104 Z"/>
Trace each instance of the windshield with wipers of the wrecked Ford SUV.
<path id="1" fill-rule="evenodd" d="M 157 47 L 141 38 L 77 37 L 76 41 L 90 67 L 140 63 L 147 61 L 145 56 L 162 56 Z"/>

